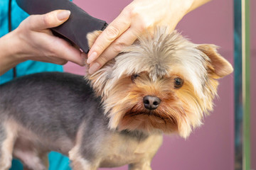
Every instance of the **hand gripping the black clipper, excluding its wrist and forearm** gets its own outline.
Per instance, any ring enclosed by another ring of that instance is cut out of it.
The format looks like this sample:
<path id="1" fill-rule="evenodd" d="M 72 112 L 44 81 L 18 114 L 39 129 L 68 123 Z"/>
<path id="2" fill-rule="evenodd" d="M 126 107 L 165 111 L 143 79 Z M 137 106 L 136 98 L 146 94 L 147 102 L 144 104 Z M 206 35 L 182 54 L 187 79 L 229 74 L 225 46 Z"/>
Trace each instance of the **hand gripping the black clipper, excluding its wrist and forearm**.
<path id="1" fill-rule="evenodd" d="M 70 11 L 56 10 L 26 18 L 16 29 L 23 42 L 22 55 L 26 60 L 65 64 L 68 61 L 83 65 L 85 56 L 70 43 L 55 37 L 48 28 L 60 26 L 68 20 Z"/>

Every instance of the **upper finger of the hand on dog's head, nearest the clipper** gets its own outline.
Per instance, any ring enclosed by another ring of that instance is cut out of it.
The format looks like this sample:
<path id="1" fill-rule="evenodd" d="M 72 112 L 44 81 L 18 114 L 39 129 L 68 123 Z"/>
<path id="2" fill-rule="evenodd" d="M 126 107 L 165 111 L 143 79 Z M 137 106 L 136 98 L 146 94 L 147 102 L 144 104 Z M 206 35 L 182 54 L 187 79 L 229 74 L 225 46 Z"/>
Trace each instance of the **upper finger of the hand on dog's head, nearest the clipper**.
<path id="1" fill-rule="evenodd" d="M 87 63 L 90 64 L 99 57 L 102 52 L 110 46 L 131 24 L 131 18 L 127 11 L 122 11 L 120 15 L 110 23 L 109 26 L 100 34 L 88 53 Z"/>

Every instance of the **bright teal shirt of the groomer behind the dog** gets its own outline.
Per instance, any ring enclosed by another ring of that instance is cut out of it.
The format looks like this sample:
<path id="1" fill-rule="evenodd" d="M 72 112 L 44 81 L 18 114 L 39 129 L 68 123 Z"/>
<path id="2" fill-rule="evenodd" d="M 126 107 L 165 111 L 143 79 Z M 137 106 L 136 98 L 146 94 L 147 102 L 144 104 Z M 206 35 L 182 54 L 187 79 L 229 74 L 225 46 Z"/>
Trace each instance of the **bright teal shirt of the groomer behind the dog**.
<path id="1" fill-rule="evenodd" d="M 8 0 L 0 0 L 0 38 L 7 33 L 8 30 Z M 18 7 L 15 0 L 12 0 L 11 4 L 11 28 L 16 29 L 18 25 L 25 18 L 28 17 L 28 13 L 24 12 Z M 1 61 L 0 61 L 1 62 Z M 16 66 L 17 77 L 21 77 L 26 74 L 33 74 L 36 72 L 63 72 L 63 67 L 57 64 L 50 64 L 46 62 L 26 61 Z M 0 77 L 0 84 L 4 84 L 7 81 L 13 79 L 13 70 L 9 70 Z M 50 170 L 70 170 L 68 157 L 65 157 L 57 152 L 50 152 L 48 155 L 50 162 Z M 22 165 L 17 160 L 13 161 L 11 170 L 21 170 Z"/>

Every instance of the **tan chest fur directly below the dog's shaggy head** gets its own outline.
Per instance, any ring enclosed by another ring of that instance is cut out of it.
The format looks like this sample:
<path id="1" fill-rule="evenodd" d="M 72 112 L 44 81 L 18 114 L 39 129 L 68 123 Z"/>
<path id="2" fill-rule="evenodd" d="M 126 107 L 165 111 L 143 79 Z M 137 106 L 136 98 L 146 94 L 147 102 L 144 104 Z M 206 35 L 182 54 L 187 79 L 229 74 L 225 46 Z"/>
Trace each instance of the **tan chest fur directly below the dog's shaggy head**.
<path id="1" fill-rule="evenodd" d="M 104 154 L 100 156 L 102 159 L 100 166 L 114 167 L 135 162 L 136 167 L 142 166 L 148 169 L 151 159 L 161 146 L 162 138 L 162 135 L 155 134 L 146 140 L 136 142 L 125 136 L 109 137 L 106 142 L 111 145 L 105 147 Z M 135 167 L 131 166 L 129 169 L 135 169 Z"/>

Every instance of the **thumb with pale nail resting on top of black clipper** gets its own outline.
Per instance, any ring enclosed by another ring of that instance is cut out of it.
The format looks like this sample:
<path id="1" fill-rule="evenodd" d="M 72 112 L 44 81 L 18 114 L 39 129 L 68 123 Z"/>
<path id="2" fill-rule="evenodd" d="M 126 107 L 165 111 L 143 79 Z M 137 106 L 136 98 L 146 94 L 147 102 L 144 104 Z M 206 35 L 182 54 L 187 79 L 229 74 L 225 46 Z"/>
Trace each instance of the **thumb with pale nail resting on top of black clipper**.
<path id="1" fill-rule="evenodd" d="M 43 15 L 32 15 L 29 17 L 30 28 L 31 30 L 54 28 L 67 21 L 69 16 L 70 11 L 68 10 L 55 10 Z"/>

